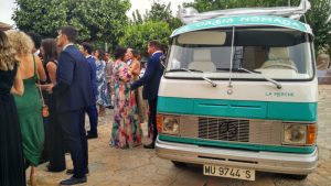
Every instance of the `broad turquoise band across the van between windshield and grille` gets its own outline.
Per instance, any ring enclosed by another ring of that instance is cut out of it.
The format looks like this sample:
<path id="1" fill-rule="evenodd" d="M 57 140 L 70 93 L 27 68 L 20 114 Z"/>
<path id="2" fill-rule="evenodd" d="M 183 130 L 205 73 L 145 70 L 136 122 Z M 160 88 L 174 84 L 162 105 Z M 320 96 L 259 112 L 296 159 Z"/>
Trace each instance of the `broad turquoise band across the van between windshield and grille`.
<path id="1" fill-rule="evenodd" d="M 159 97 L 158 112 L 286 121 L 317 121 L 317 102 Z"/>

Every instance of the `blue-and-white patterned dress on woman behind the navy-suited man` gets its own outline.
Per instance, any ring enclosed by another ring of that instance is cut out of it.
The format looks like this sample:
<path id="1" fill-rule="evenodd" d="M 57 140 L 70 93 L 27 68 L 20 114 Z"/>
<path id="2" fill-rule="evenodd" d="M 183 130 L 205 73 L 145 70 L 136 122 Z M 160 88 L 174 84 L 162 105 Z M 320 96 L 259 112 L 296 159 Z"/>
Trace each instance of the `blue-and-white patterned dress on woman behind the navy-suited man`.
<path id="1" fill-rule="evenodd" d="M 110 89 L 106 80 L 106 62 L 96 61 L 96 75 L 97 75 L 97 103 L 104 107 L 110 106 Z"/>

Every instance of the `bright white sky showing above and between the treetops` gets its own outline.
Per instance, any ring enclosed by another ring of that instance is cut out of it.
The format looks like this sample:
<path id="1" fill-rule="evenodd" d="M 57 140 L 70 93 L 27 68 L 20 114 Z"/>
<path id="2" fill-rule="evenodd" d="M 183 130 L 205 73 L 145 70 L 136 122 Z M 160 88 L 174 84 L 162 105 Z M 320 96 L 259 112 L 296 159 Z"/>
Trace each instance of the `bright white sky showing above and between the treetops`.
<path id="1" fill-rule="evenodd" d="M 131 12 L 138 9 L 141 14 L 145 13 L 146 10 L 150 10 L 150 4 L 153 0 L 130 0 L 131 1 L 131 10 L 127 12 L 128 17 L 131 17 Z M 160 0 L 160 2 L 169 3 L 171 2 L 171 10 L 173 15 L 175 15 L 178 6 L 183 2 L 192 2 L 193 0 Z M 13 13 L 13 9 L 15 8 L 14 0 L 0 0 L 0 21 L 6 22 L 8 24 L 14 24 L 11 20 L 11 15 Z"/>

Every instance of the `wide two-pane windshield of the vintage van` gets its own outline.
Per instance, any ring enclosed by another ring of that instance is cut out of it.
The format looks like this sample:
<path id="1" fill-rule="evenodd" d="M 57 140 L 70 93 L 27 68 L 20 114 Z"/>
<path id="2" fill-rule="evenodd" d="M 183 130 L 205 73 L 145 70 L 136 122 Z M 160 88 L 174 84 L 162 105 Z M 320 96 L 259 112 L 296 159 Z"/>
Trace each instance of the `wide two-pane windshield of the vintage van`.
<path id="1" fill-rule="evenodd" d="M 166 77 L 226 79 L 232 67 L 233 79 L 312 78 L 308 34 L 281 28 L 236 29 L 234 33 L 234 41 L 232 29 L 178 35 L 171 43 Z"/>

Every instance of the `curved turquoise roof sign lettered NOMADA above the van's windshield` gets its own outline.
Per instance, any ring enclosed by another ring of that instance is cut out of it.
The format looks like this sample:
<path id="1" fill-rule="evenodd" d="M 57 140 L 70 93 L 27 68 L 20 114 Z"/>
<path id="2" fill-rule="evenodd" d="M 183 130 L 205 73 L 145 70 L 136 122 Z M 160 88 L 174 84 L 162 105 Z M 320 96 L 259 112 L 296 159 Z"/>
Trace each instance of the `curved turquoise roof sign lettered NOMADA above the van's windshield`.
<path id="1" fill-rule="evenodd" d="M 229 28 L 229 26 L 252 26 L 252 25 L 273 25 L 280 28 L 288 28 L 312 34 L 308 24 L 300 21 L 274 17 L 274 15 L 241 15 L 241 17 L 222 17 L 216 19 L 203 20 L 191 24 L 183 25 L 177 29 L 170 37 L 177 36 L 182 33 L 215 29 L 215 28 Z"/>

